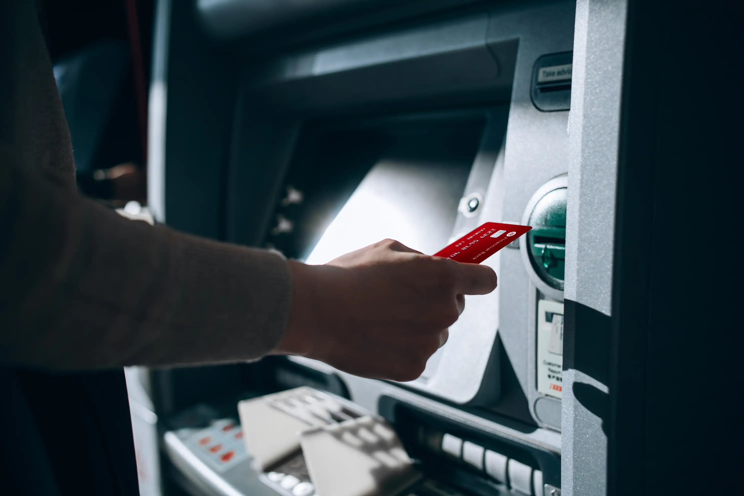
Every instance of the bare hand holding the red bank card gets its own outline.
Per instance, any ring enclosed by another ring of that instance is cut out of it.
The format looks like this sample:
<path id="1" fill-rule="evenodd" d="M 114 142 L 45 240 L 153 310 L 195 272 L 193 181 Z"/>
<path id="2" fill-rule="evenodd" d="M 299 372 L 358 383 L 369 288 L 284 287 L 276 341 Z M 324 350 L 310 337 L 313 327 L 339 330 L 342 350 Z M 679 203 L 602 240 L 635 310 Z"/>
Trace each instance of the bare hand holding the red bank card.
<path id="1" fill-rule="evenodd" d="M 292 310 L 274 353 L 375 379 L 416 379 L 462 313 L 464 294 L 496 289 L 487 265 L 429 257 L 391 239 L 326 265 L 289 264 Z"/>

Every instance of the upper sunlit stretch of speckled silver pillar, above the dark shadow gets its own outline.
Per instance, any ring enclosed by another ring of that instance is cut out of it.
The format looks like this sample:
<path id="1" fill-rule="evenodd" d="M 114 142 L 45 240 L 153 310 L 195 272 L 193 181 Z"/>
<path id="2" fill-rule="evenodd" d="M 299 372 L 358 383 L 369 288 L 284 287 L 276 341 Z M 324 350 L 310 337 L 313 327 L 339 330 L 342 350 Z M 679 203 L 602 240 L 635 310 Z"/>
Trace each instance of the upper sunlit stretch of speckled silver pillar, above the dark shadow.
<path id="1" fill-rule="evenodd" d="M 565 297 L 610 315 L 625 1 L 579 1 L 571 87 Z"/>

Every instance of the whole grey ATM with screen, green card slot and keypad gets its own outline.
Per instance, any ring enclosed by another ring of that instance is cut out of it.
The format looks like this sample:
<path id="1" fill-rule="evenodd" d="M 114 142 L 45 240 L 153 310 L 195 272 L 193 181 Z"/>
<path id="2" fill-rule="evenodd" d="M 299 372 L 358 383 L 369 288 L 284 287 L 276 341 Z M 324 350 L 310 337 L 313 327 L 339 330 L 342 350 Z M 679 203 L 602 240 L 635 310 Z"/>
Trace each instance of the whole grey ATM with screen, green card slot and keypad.
<path id="1" fill-rule="evenodd" d="M 467 297 L 417 380 L 297 357 L 142 375 L 159 448 L 138 462 L 165 494 L 315 494 L 300 462 L 262 471 L 241 440 L 238 402 L 291 390 L 394 429 L 421 477 L 400 494 L 604 494 L 602 421 L 570 384 L 606 377 L 573 370 L 564 340 L 578 307 L 609 315 L 616 166 L 593 158 L 617 146 L 625 4 L 599 3 L 158 2 L 158 221 L 307 263 L 533 226 L 487 260 L 498 289 Z"/>

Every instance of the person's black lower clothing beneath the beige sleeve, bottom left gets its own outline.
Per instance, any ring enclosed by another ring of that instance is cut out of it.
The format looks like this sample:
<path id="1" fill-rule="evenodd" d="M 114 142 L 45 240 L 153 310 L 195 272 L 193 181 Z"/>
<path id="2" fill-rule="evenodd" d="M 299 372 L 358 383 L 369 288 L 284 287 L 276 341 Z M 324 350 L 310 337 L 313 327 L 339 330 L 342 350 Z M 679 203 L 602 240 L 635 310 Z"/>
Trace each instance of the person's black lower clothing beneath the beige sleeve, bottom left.
<path id="1" fill-rule="evenodd" d="M 17 383 L 11 392 L 20 390 L 13 400 L 24 404 L 14 408 L 26 410 L 30 418 L 8 427 L 30 428 L 28 436 L 36 443 L 19 447 L 22 454 L 36 452 L 16 460 L 22 470 L 16 480 L 34 486 L 39 483 L 34 477 L 44 477 L 42 482 L 53 483 L 60 496 L 138 495 L 124 370 L 12 373 Z M 33 494 L 24 489 L 12 494 Z"/>

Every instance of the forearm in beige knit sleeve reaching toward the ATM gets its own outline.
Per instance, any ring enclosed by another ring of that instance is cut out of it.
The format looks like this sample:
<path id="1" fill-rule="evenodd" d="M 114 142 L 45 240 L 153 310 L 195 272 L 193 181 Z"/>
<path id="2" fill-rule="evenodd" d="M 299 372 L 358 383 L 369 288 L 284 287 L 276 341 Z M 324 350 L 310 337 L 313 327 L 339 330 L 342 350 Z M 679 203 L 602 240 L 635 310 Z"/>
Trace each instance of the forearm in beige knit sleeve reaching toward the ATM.
<path id="1" fill-rule="evenodd" d="M 266 251 L 123 219 L 2 167 L 0 361 L 80 369 L 272 350 L 291 274 Z"/>

